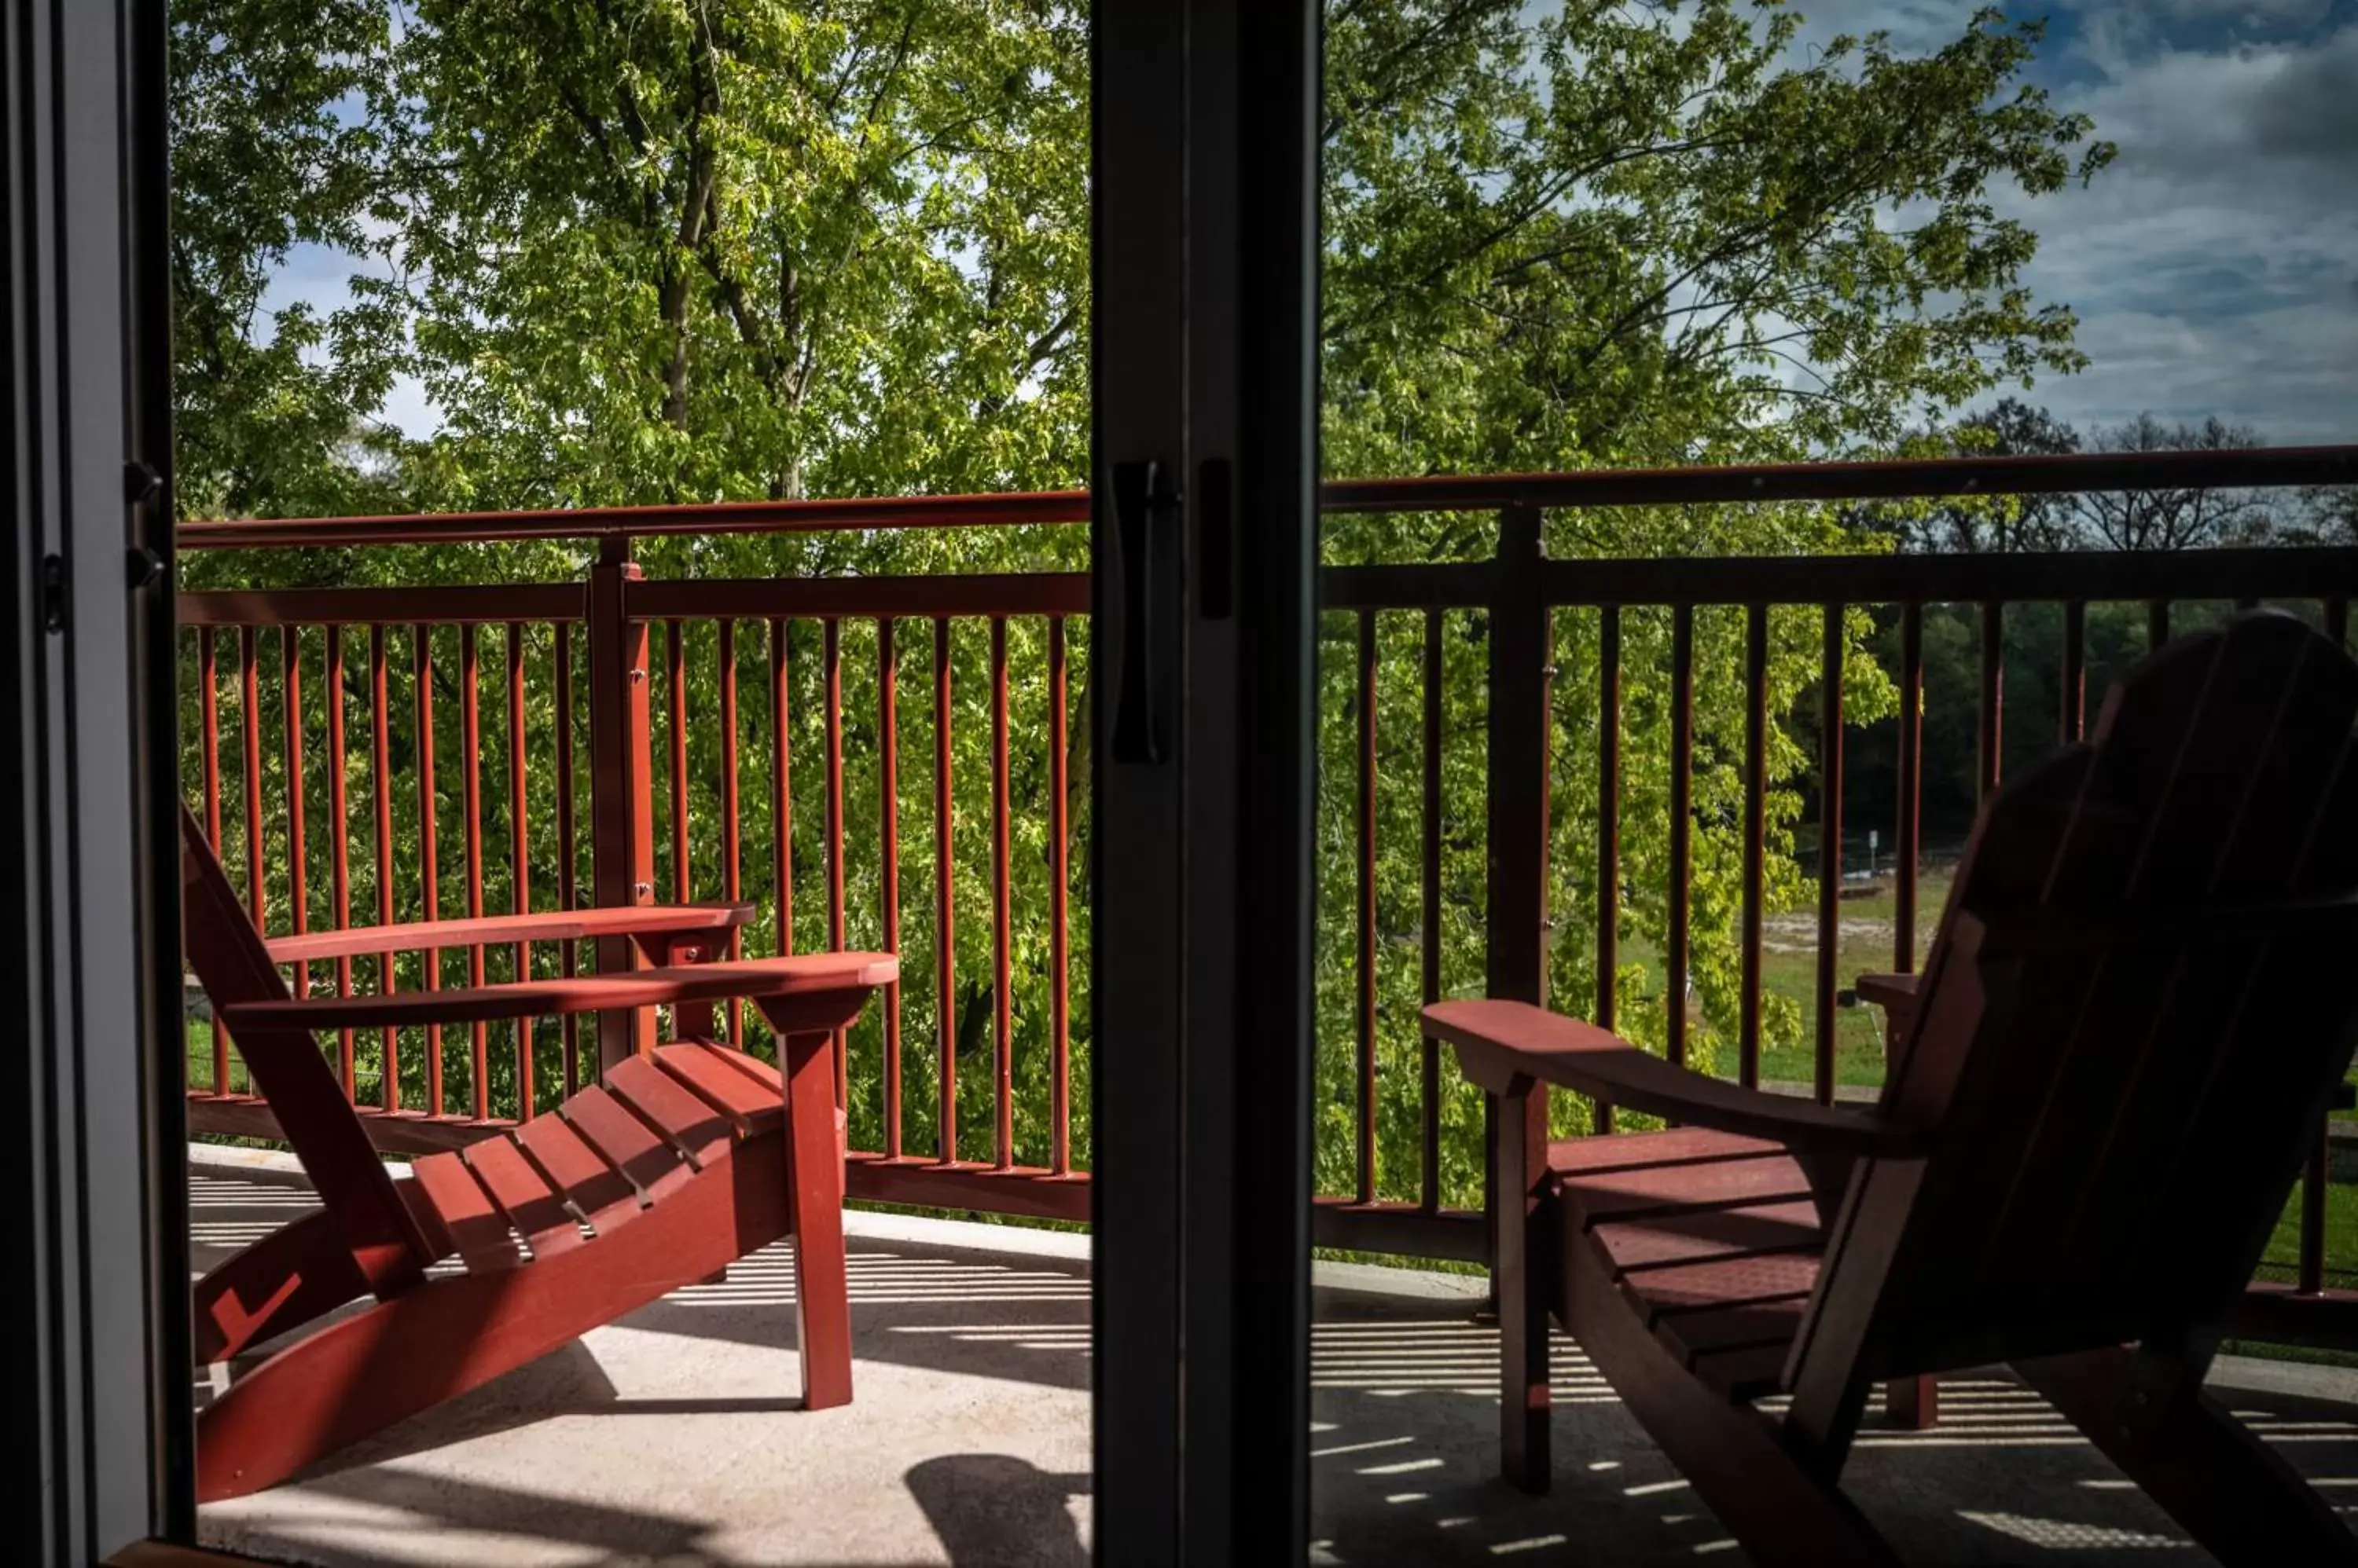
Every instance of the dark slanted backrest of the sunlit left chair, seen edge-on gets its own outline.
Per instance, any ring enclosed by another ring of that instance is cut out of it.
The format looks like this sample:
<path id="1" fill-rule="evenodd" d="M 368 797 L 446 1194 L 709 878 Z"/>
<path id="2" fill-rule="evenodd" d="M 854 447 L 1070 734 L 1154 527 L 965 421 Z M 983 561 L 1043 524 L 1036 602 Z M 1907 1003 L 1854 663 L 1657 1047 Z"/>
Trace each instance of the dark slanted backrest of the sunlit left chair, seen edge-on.
<path id="1" fill-rule="evenodd" d="M 179 811 L 179 868 L 182 941 L 205 995 L 215 1004 L 285 1000 L 278 964 L 186 806 Z M 318 1042 L 304 1030 L 238 1030 L 231 1042 L 370 1287 L 391 1294 L 415 1283 L 434 1250 L 384 1174 Z"/>

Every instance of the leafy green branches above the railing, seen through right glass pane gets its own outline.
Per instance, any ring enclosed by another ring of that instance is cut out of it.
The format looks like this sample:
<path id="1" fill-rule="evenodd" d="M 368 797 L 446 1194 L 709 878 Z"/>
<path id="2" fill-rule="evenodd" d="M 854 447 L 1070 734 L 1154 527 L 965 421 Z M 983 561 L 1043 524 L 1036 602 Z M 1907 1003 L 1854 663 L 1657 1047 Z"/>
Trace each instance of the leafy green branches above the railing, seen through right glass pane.
<path id="1" fill-rule="evenodd" d="M 1929 57 L 1738 0 L 1337 0 L 1330 467 L 1806 457 L 2073 370 L 2033 196 L 2113 153 L 1993 7 Z"/>

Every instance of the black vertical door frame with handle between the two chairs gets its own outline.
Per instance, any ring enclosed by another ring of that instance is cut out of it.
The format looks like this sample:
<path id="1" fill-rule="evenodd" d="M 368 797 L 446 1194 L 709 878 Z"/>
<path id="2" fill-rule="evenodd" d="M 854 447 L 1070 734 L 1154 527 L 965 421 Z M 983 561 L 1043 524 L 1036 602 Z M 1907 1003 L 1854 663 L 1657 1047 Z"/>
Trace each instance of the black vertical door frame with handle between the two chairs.
<path id="1" fill-rule="evenodd" d="M 1096 1554 L 1309 1495 L 1313 0 L 1094 19 Z"/>

